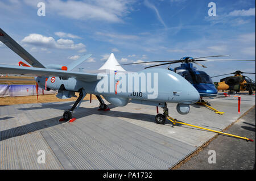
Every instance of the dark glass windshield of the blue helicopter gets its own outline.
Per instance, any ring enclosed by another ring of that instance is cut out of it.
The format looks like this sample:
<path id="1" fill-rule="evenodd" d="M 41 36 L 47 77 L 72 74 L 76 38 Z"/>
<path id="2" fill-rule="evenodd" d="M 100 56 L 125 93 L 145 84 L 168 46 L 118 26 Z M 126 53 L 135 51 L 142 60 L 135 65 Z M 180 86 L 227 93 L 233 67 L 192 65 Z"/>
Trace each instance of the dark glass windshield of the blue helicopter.
<path id="1" fill-rule="evenodd" d="M 179 74 L 187 79 L 190 83 L 210 83 L 213 84 L 212 79 L 209 77 L 209 75 L 205 74 L 204 71 L 199 71 L 200 74 L 196 74 L 194 71 L 183 71 Z"/>

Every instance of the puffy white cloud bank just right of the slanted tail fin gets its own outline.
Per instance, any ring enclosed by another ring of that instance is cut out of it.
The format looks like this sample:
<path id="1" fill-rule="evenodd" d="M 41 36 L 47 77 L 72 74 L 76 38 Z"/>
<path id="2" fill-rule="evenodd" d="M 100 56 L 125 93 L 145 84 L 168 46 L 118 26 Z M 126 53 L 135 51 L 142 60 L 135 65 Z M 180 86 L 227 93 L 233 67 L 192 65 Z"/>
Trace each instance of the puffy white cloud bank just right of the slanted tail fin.
<path id="1" fill-rule="evenodd" d="M 29 36 L 24 37 L 23 44 L 31 44 L 41 46 L 44 48 L 57 48 L 57 49 L 78 49 L 84 50 L 85 45 L 82 43 L 75 44 L 73 40 L 59 39 L 55 41 L 53 37 L 47 37 L 40 34 L 32 33 Z"/>

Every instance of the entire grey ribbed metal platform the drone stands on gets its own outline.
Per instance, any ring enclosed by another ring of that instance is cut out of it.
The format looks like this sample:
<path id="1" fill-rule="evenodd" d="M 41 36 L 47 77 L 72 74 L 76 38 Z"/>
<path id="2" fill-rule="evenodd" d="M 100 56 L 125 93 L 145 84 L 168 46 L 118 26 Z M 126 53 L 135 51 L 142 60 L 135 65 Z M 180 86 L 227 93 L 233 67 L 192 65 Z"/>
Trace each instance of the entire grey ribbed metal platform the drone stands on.
<path id="1" fill-rule="evenodd" d="M 188 115 L 179 115 L 175 104 L 168 108 L 179 121 L 221 131 L 255 105 L 254 95 L 241 96 L 241 114 L 233 97 L 208 99 L 224 115 L 199 105 Z M 152 106 L 97 111 L 98 100 L 82 102 L 75 122 L 59 123 L 72 104 L 0 106 L 0 169 L 169 169 L 216 135 L 168 120 L 156 124 Z M 37 162 L 38 150 L 45 151 L 45 164 Z"/>

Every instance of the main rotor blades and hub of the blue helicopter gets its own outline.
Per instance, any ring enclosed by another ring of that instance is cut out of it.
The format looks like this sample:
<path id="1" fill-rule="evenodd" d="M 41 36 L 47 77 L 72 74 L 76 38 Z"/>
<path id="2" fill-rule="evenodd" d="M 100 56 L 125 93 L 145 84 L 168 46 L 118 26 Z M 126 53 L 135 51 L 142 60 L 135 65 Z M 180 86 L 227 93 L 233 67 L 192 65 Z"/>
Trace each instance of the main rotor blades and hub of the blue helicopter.
<path id="1" fill-rule="evenodd" d="M 176 63 L 181 62 L 181 63 L 194 63 L 194 64 L 202 66 L 203 68 L 207 68 L 207 66 L 199 64 L 197 61 L 216 61 L 216 60 L 207 60 L 207 59 L 202 59 L 202 58 L 226 57 L 226 56 L 229 56 L 229 55 L 216 55 L 216 56 L 207 56 L 207 57 L 198 57 L 198 58 L 184 57 L 184 58 L 181 58 L 181 60 L 149 61 L 149 62 L 138 62 L 138 63 L 131 63 L 131 64 L 121 64 L 121 65 L 133 65 L 133 64 L 148 64 L 148 63 L 157 63 L 157 62 L 167 62 L 167 63 L 164 63 L 164 64 L 152 65 L 152 66 L 147 66 L 146 68 L 144 68 L 144 69 L 147 69 L 147 68 L 152 68 L 152 67 L 155 67 L 155 66 L 161 66 L 161 65 L 167 65 L 167 64 L 176 64 Z M 221 60 L 218 60 L 218 61 L 226 61 L 226 60 L 221 59 Z M 229 61 L 229 60 L 227 59 L 227 61 Z M 255 61 L 255 60 L 233 60 L 233 61 Z M 117 65 L 117 66 L 119 66 L 119 65 Z"/>

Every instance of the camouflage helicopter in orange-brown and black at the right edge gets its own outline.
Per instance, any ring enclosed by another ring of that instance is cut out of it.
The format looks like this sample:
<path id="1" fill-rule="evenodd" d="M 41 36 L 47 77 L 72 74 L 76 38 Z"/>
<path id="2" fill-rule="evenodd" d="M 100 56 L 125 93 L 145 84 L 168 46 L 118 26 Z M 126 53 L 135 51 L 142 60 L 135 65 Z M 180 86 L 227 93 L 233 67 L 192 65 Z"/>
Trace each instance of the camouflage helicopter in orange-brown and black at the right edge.
<path id="1" fill-rule="evenodd" d="M 236 91 L 236 92 L 249 91 L 249 95 L 253 94 L 253 91 L 255 91 L 255 81 L 253 81 L 249 77 L 242 74 L 255 74 L 255 73 L 242 72 L 240 70 L 237 70 L 229 74 L 234 74 L 234 76 L 222 78 L 220 79 L 220 82 L 214 82 L 214 85 L 216 86 L 217 90 L 222 90 L 222 91 L 229 90 L 229 93 L 231 94 L 233 93 L 233 91 Z M 229 75 L 229 74 L 216 75 L 213 77 L 220 77 L 220 76 Z"/>

